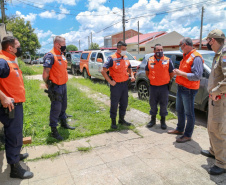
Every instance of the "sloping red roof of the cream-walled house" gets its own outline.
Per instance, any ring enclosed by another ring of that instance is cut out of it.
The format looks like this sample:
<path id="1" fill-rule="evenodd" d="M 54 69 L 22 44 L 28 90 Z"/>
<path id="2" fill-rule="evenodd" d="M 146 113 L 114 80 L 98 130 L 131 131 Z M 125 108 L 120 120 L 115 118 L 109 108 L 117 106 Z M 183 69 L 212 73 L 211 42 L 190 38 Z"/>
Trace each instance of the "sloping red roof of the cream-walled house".
<path id="1" fill-rule="evenodd" d="M 152 33 L 146 33 L 146 34 L 140 35 L 139 36 L 139 44 L 144 44 L 156 37 L 159 37 L 159 36 L 162 36 L 165 34 L 167 34 L 167 32 L 159 31 L 159 32 L 152 32 Z M 137 41 L 138 41 L 138 35 L 131 37 L 129 39 L 126 39 L 126 44 L 137 43 Z"/>

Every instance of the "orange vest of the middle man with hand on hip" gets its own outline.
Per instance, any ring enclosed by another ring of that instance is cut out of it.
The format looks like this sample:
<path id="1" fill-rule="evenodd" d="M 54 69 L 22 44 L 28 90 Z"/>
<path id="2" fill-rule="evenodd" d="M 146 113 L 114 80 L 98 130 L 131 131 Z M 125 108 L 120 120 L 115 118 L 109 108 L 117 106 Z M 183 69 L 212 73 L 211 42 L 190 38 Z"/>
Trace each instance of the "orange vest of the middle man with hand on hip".
<path id="1" fill-rule="evenodd" d="M 123 59 L 120 54 L 115 53 L 111 55 L 113 59 L 113 66 L 109 68 L 109 73 L 115 82 L 125 82 L 129 79 L 128 67 L 130 62 L 127 56 Z"/>

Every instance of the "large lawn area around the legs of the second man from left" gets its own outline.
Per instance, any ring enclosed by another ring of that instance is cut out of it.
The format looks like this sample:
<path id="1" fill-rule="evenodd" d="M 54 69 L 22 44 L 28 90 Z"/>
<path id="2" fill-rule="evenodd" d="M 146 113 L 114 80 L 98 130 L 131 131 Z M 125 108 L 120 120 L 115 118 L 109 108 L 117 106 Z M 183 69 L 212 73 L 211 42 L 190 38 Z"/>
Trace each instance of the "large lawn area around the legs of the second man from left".
<path id="1" fill-rule="evenodd" d="M 40 88 L 41 83 L 43 82 L 24 79 L 26 102 L 23 104 L 23 134 L 24 137 L 32 136 L 32 144 L 29 146 L 58 142 L 50 135 L 50 100 L 44 90 Z M 75 126 L 76 129 L 68 130 L 58 127 L 64 141 L 113 131 L 110 129 L 110 108 L 108 106 L 101 104 L 100 107 L 95 100 L 88 98 L 86 94 L 74 86 L 73 79 L 69 80 L 67 90 L 67 113 L 73 115 L 69 124 Z M 122 129 L 128 128 L 121 126 L 118 130 Z"/>

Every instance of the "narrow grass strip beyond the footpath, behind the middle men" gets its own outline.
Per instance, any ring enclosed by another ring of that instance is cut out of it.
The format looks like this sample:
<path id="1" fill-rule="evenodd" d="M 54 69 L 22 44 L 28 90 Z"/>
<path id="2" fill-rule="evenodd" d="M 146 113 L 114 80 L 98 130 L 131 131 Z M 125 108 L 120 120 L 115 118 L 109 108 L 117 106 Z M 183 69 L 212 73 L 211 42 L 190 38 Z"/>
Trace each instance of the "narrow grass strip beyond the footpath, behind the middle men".
<path id="1" fill-rule="evenodd" d="M 110 97 L 110 88 L 103 82 L 103 83 L 95 83 L 95 85 L 93 85 L 93 82 L 89 79 L 83 79 L 83 78 L 76 78 L 73 79 L 72 81 L 74 81 L 75 83 L 79 83 L 81 85 L 85 85 L 87 87 L 89 87 L 90 89 L 92 89 L 95 92 L 100 92 L 102 94 L 105 94 L 107 96 Z M 130 108 L 134 108 L 137 110 L 140 110 L 144 113 L 149 114 L 150 111 L 150 105 L 149 102 L 146 100 L 139 100 L 137 98 L 134 98 L 130 93 L 129 93 L 129 102 L 128 102 L 128 110 Z M 170 119 L 175 119 L 176 116 L 168 110 L 168 116 L 166 117 L 166 120 L 170 120 Z M 157 115 L 157 118 L 160 119 L 159 114 Z"/>

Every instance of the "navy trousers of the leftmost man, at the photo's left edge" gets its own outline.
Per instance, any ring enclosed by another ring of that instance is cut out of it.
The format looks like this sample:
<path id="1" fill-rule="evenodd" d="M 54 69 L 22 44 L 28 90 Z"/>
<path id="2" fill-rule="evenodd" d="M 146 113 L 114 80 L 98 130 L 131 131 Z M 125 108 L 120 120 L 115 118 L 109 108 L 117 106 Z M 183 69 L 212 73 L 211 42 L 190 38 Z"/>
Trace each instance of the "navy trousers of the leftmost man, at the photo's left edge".
<path id="1" fill-rule="evenodd" d="M 23 105 L 14 106 L 14 118 L 9 119 L 4 109 L 0 108 L 0 121 L 4 125 L 5 151 L 8 164 L 19 162 L 23 144 Z"/>

